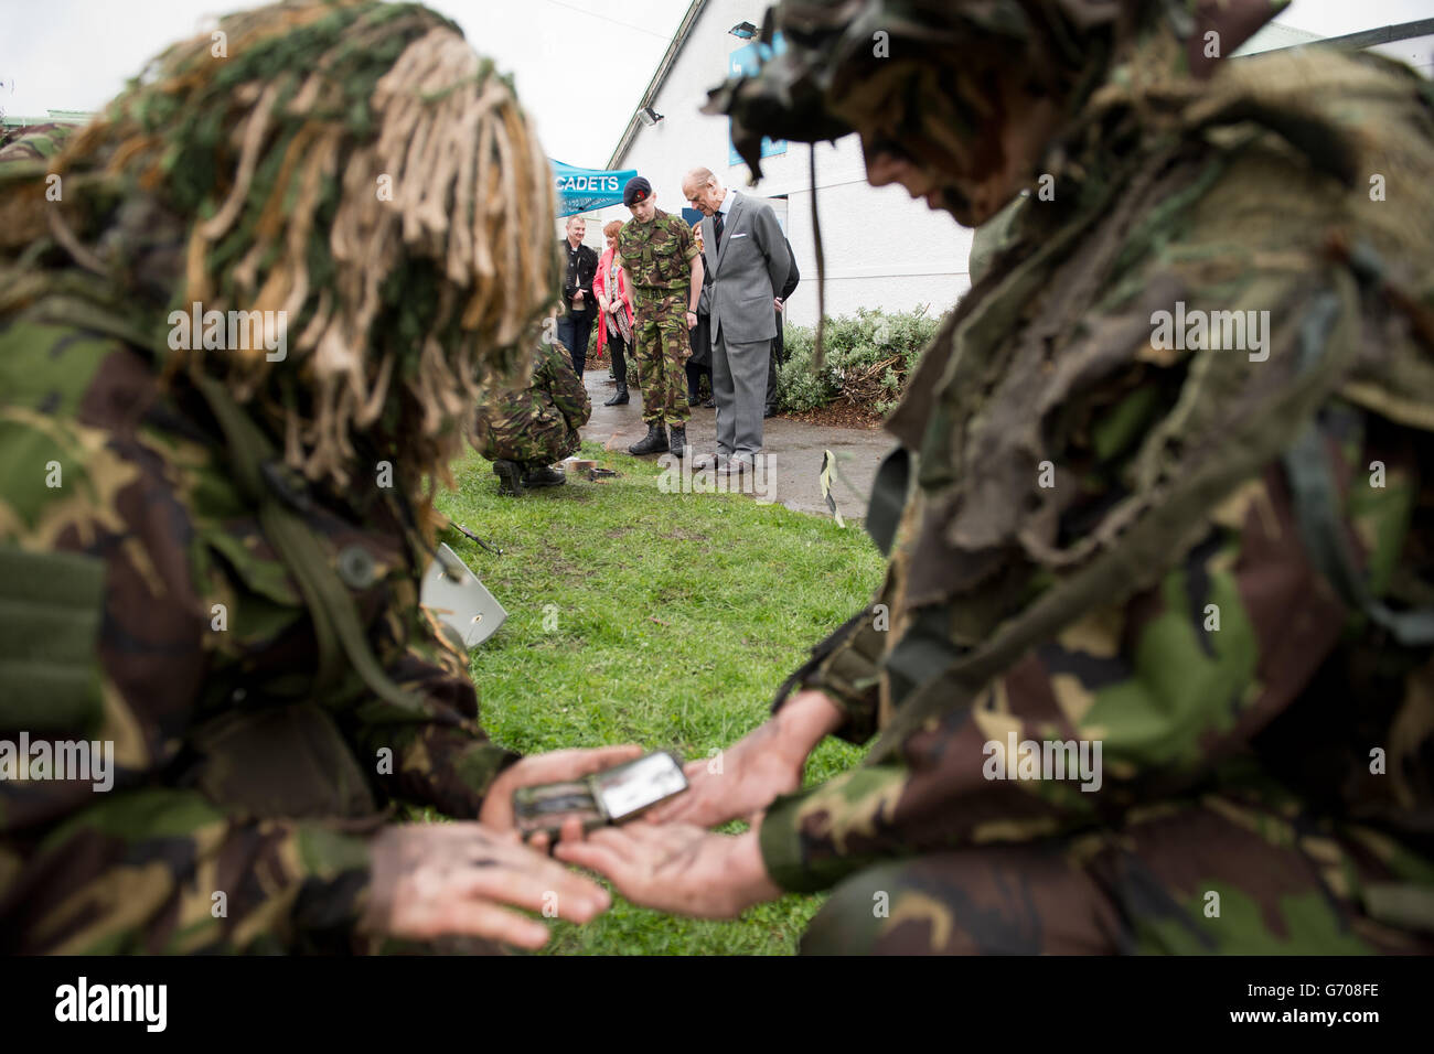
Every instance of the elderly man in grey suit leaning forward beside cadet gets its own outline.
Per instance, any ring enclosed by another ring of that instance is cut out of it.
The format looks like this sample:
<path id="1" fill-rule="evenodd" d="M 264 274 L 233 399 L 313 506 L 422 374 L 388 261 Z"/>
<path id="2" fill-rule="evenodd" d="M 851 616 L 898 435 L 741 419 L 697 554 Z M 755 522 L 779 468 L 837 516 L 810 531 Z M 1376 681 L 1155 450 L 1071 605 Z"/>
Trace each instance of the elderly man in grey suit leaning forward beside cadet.
<path id="1" fill-rule="evenodd" d="M 726 189 L 711 169 L 694 168 L 683 196 L 700 211 L 703 252 L 711 268 L 713 396 L 718 469 L 751 470 L 761 453 L 767 359 L 777 336 L 773 310 L 792 255 L 771 206 Z M 693 467 L 707 465 L 704 459 Z"/>

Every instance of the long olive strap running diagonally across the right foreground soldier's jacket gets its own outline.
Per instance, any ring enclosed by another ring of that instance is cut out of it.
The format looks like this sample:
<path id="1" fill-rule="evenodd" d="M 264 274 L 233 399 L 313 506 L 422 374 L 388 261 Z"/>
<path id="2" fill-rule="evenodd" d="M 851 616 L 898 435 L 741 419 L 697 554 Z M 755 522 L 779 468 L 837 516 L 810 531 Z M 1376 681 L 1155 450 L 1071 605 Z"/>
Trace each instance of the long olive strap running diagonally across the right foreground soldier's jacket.
<path id="1" fill-rule="evenodd" d="M 1289 383 L 1265 413 L 1226 436 L 1222 456 L 1180 473 L 1169 493 L 1127 528 L 1119 545 L 1090 559 L 1053 585 L 1022 614 L 998 627 L 971 651 L 926 680 L 895 713 L 872 747 L 866 764 L 889 759 L 925 721 L 968 707 L 991 678 L 1010 670 L 1022 654 L 1097 607 L 1124 602 L 1141 581 L 1143 568 L 1166 566 L 1190 526 L 1240 482 L 1278 460 L 1336 386 L 1339 371 L 1354 357 L 1358 290 L 1354 275 L 1336 272 L 1338 291 L 1315 298 L 1299 328 L 1299 363 Z M 1342 308 L 1342 310 L 1341 310 Z M 1338 346 L 1338 354 L 1328 354 Z M 1296 430 L 1298 429 L 1298 430 Z"/>

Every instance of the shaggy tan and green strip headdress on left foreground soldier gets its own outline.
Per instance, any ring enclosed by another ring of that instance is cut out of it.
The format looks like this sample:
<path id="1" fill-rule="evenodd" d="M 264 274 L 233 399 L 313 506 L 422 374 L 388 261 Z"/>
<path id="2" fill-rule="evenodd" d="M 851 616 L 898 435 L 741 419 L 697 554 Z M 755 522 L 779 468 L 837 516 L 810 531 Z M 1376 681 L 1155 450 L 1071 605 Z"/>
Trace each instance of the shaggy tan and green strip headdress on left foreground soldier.
<path id="1" fill-rule="evenodd" d="M 57 171 L 199 217 L 169 310 L 287 313 L 284 361 L 161 340 L 168 369 L 257 402 L 311 479 L 346 485 L 354 433 L 379 426 L 410 480 L 447 482 L 473 407 L 526 377 L 523 337 L 555 297 L 549 165 L 512 86 L 416 6 L 281 4 L 221 29 L 229 57 L 209 34 L 175 44 Z M 56 238 L 113 274 L 103 225 L 69 222 Z"/>

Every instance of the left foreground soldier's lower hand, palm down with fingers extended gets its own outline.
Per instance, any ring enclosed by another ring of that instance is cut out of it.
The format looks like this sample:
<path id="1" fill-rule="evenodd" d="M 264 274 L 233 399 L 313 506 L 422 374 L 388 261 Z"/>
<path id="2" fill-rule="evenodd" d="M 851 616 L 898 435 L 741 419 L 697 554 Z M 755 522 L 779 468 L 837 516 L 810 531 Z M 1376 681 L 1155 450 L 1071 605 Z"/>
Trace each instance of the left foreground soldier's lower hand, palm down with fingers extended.
<path id="1" fill-rule="evenodd" d="M 548 928 L 508 905 L 589 922 L 611 898 L 594 882 L 479 823 L 386 827 L 370 843 L 370 934 L 407 939 L 478 936 L 541 948 Z"/>

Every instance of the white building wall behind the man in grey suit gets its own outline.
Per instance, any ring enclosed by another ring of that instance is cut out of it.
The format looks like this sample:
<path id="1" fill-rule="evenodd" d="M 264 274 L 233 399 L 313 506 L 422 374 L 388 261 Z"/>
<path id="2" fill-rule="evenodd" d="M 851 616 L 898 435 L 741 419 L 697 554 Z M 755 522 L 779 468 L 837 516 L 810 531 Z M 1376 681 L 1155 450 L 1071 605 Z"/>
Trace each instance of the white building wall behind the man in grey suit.
<path id="1" fill-rule="evenodd" d="M 764 4 L 754 0 L 710 0 L 652 103 L 664 119 L 640 128 L 614 168 L 635 168 L 652 182 L 658 208 L 677 214 L 687 205 L 683 175 L 698 165 L 741 192 L 761 198 L 787 195 L 786 231 L 802 270 L 787 318 L 812 326 L 817 295 L 807 145 L 789 143 L 786 153 L 766 158 L 761 182 L 749 188 L 747 166 L 727 163 L 727 118 L 698 112 L 707 102 L 707 90 L 727 76 L 728 56 L 749 43 L 727 30 L 740 22 L 761 24 L 763 10 Z M 925 201 L 912 201 L 901 186 L 869 186 L 855 135 L 835 148 L 817 146 L 816 185 L 829 315 L 850 314 L 859 307 L 899 311 L 921 304 L 939 315 L 971 287 L 967 258 L 972 232 L 948 214 L 931 211 Z M 588 214 L 588 241 L 599 244 L 601 234 L 595 241 L 595 231 L 609 219 L 627 221 L 630 215 L 621 205 Z M 780 208 L 777 217 L 782 218 Z"/>

